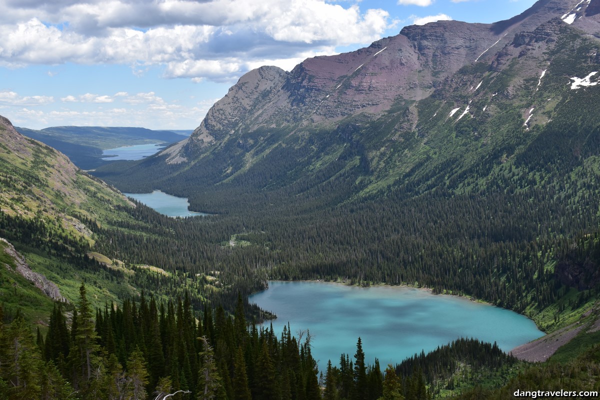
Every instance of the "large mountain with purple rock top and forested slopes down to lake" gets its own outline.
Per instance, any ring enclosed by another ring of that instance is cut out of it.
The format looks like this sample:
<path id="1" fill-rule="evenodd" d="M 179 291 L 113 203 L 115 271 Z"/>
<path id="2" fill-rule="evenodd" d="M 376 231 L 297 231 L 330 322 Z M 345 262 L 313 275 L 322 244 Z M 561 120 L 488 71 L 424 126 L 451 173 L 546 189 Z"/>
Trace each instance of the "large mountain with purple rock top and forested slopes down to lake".
<path id="1" fill-rule="evenodd" d="M 554 329 L 541 310 L 577 281 L 557 260 L 600 223 L 598 4 L 258 68 L 188 140 L 95 175 L 242 221 L 271 277 L 425 285 Z"/>

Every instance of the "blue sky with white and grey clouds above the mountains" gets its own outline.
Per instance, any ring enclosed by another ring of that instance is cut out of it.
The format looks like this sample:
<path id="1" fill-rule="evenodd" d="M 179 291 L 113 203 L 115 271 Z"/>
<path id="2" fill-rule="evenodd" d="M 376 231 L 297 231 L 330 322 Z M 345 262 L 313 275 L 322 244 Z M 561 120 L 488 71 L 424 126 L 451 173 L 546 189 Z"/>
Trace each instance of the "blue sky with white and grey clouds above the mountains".
<path id="1" fill-rule="evenodd" d="M 0 115 L 19 127 L 193 130 L 239 77 L 535 0 L 0 0 Z"/>

